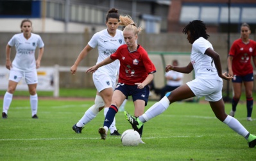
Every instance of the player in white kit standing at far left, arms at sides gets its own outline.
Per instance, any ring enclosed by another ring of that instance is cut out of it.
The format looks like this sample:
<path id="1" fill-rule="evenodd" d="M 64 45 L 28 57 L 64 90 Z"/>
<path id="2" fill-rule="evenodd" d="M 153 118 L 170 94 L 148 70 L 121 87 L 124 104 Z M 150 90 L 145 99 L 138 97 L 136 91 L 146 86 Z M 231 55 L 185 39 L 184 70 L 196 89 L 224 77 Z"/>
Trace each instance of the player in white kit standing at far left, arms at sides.
<path id="1" fill-rule="evenodd" d="M 12 103 L 13 92 L 22 77 L 28 84 L 30 92 L 30 105 L 32 118 L 38 119 L 37 107 L 37 69 L 40 67 L 42 55 L 44 53 L 44 42 L 42 38 L 31 33 L 32 22 L 24 19 L 21 22 L 22 33 L 15 34 L 6 46 L 6 68 L 10 70 L 8 90 L 4 94 L 2 117 L 7 118 L 7 112 Z M 15 46 L 16 55 L 13 62 L 10 60 L 11 48 Z M 35 60 L 35 49 L 39 48 L 37 60 Z"/>

